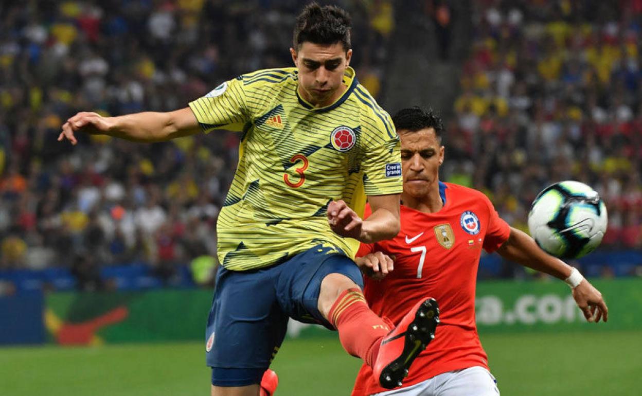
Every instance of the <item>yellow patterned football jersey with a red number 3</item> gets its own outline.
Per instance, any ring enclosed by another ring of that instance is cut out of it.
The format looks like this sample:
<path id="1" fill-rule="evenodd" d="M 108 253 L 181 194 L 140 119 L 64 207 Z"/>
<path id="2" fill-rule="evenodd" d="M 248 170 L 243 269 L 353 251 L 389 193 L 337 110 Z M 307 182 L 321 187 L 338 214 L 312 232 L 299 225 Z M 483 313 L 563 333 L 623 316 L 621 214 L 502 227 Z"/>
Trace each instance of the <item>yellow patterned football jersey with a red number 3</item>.
<path id="1" fill-rule="evenodd" d="M 353 257 L 358 241 L 334 234 L 328 204 L 342 199 L 363 216 L 367 195 L 402 191 L 399 137 L 354 70 L 328 107 L 300 98 L 297 83 L 294 67 L 261 70 L 189 103 L 204 132 L 242 133 L 216 225 L 229 270 L 270 266 L 320 243 Z"/>

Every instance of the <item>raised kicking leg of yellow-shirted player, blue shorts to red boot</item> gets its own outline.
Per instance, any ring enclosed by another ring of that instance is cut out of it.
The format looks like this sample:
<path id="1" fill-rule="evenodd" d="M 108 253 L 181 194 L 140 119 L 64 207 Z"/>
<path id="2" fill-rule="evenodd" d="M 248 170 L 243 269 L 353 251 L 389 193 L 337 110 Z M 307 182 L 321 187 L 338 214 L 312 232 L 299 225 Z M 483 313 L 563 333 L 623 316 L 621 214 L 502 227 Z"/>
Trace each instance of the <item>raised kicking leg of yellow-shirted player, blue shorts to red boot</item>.
<path id="1" fill-rule="evenodd" d="M 385 388 L 399 386 L 406 369 L 434 337 L 435 300 L 422 300 L 393 329 L 370 310 L 354 261 L 317 245 L 279 265 L 279 304 L 291 318 L 337 330 L 343 348 L 372 367 Z M 383 381 L 382 381 L 383 380 Z"/>

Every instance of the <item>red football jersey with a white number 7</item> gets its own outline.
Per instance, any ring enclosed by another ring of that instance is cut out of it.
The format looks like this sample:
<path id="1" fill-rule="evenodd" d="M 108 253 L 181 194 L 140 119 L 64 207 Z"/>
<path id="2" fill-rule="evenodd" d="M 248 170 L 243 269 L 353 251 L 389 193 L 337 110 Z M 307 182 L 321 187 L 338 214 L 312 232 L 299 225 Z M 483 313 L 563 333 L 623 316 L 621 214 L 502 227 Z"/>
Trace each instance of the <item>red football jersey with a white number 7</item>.
<path id="1" fill-rule="evenodd" d="M 480 191 L 441 182 L 439 187 L 444 202 L 440 211 L 422 213 L 401 205 L 399 235 L 362 244 L 357 254 L 381 251 L 395 256 L 394 270 L 385 279 L 364 280 L 365 298 L 379 316 L 399 323 L 420 298 L 433 297 L 439 304 L 435 340 L 415 359 L 404 386 L 452 370 L 488 368 L 475 325 L 477 268 L 482 248 L 497 250 L 510 236 L 510 227 Z M 363 365 L 352 396 L 384 391 Z"/>

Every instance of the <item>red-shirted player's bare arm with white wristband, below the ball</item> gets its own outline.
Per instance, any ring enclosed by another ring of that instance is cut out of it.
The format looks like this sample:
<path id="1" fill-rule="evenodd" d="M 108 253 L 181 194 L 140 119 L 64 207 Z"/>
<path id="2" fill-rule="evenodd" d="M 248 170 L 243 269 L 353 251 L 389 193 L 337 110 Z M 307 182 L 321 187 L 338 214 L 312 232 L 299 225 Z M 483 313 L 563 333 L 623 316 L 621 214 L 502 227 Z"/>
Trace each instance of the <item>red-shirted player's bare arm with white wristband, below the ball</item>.
<path id="1" fill-rule="evenodd" d="M 541 250 L 525 232 L 511 227 L 508 241 L 501 245 L 497 252 L 505 259 L 571 282 L 569 286 L 573 289 L 573 298 L 588 322 L 600 322 L 600 319 L 607 322 L 609 319 L 609 309 L 602 293 L 575 268 Z"/>

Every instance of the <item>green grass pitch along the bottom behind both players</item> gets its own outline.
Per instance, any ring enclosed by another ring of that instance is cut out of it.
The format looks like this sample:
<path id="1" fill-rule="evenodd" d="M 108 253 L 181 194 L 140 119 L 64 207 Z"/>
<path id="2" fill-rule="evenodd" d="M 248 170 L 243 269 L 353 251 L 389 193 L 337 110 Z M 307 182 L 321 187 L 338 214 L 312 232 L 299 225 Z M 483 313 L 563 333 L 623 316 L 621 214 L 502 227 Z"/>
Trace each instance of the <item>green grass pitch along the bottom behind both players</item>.
<path id="1" fill-rule="evenodd" d="M 493 334 L 482 342 L 503 395 L 642 394 L 642 332 Z M 349 395 L 359 366 L 337 338 L 286 340 L 272 365 L 276 396 Z M 0 349 L 0 395 L 41 394 L 209 395 L 204 344 Z"/>

